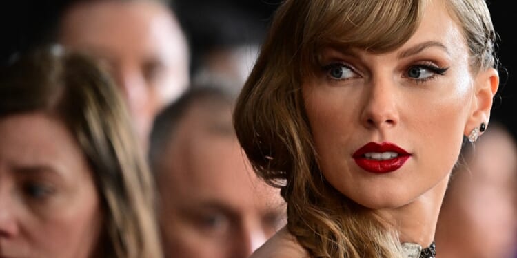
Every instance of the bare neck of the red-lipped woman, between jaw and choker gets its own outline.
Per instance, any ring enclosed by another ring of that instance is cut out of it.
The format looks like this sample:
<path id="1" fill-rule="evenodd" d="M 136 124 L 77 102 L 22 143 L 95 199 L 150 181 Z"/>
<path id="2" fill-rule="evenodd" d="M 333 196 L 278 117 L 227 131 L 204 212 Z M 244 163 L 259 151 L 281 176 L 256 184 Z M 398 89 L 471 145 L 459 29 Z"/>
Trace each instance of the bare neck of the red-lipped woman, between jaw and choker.
<path id="1" fill-rule="evenodd" d="M 434 241 L 438 213 L 448 182 L 447 176 L 409 204 L 380 210 L 378 215 L 398 231 L 401 243 L 414 243 L 426 248 Z"/>

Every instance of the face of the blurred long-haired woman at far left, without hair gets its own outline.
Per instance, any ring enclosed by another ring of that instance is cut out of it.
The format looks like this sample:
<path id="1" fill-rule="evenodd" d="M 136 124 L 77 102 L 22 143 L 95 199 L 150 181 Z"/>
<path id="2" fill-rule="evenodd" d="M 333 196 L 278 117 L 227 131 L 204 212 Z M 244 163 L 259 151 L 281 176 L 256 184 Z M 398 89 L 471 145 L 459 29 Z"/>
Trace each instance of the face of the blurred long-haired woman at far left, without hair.
<path id="1" fill-rule="evenodd" d="M 92 171 L 45 114 L 0 120 L 0 257 L 90 257 L 101 224 Z"/>

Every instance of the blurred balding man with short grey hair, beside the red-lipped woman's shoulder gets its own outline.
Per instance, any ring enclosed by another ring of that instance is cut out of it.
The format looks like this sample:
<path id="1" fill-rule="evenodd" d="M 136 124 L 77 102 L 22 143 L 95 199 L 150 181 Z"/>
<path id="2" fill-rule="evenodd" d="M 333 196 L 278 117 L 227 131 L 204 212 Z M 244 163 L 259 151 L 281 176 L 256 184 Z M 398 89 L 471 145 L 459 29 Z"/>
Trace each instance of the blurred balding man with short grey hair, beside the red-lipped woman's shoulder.
<path id="1" fill-rule="evenodd" d="M 166 257 L 249 257 L 285 224 L 278 189 L 257 178 L 241 151 L 231 99 L 193 89 L 154 123 L 150 155 Z"/>

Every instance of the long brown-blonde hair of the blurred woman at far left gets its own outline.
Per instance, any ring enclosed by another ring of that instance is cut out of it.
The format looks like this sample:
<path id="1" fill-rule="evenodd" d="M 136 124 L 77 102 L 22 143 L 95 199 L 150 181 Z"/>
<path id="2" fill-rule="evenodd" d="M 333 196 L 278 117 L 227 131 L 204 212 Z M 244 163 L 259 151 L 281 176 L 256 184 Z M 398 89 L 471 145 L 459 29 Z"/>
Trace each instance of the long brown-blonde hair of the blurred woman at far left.
<path id="1" fill-rule="evenodd" d="M 105 228 L 94 255 L 162 257 L 152 177 L 110 78 L 59 47 L 17 58 L 0 69 L 0 118 L 34 111 L 59 118 L 88 160 Z"/>

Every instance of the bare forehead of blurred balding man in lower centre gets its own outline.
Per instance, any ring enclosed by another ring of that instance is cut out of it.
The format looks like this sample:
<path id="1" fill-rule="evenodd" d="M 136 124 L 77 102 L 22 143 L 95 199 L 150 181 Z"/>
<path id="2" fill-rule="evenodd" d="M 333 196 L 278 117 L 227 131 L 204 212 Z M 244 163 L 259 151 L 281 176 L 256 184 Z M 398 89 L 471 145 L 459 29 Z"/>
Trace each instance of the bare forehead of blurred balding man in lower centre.
<path id="1" fill-rule="evenodd" d="M 191 204 L 219 204 L 234 211 L 267 209 L 275 200 L 278 193 L 257 178 L 236 138 L 201 133 L 189 145 L 172 154 L 176 166 L 167 172 L 172 173 L 170 184 L 174 184 L 176 198 Z"/>

